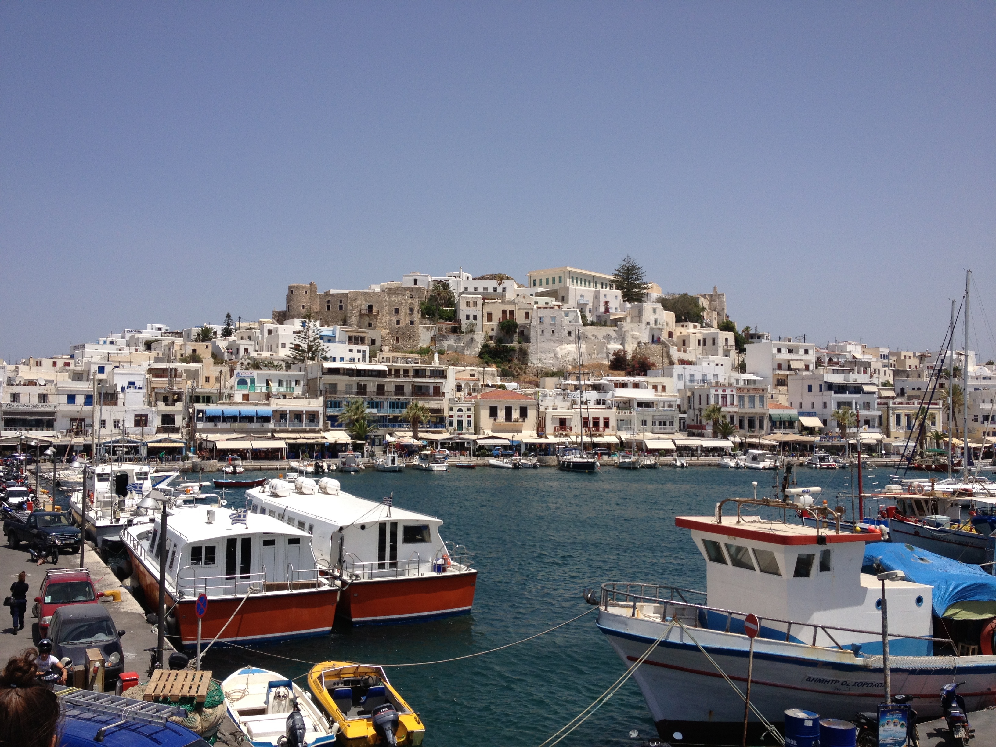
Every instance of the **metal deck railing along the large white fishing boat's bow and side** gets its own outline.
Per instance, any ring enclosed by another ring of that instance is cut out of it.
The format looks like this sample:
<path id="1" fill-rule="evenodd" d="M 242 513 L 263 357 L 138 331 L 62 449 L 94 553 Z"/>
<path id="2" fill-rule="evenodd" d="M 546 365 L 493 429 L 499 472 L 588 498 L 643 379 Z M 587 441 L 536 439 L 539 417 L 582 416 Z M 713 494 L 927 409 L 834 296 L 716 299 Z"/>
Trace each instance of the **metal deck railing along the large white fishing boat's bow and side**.
<path id="1" fill-rule="evenodd" d="M 631 590 L 638 589 L 639 592 L 636 593 Z M 655 590 L 654 594 L 648 595 L 643 594 L 644 590 Z M 661 593 L 664 590 L 664 593 Z M 619 583 L 619 582 L 608 582 L 602 585 L 602 600 L 601 608 L 606 612 L 609 612 L 609 608 L 613 607 L 617 610 L 628 611 L 630 618 L 635 618 L 637 614 L 640 617 L 648 617 L 647 613 L 638 609 L 639 605 L 652 605 L 660 607 L 659 618 L 660 622 L 665 620 L 680 620 L 681 622 L 688 624 L 691 627 L 706 627 L 707 629 L 716 629 L 714 627 L 709 627 L 708 624 L 701 624 L 699 619 L 699 613 L 705 613 L 708 616 L 709 613 L 714 615 L 725 617 L 726 625 L 723 628 L 724 632 L 730 632 L 730 628 L 734 620 L 740 621 L 741 623 L 746 620 L 749 613 L 741 613 L 735 610 L 724 610 L 718 607 L 709 607 L 705 604 L 697 604 L 688 602 L 684 595 L 700 595 L 703 598 L 706 596 L 705 592 L 696 592 L 690 589 L 680 589 L 678 587 L 668 587 L 668 586 L 657 586 L 654 584 L 639 584 L 639 583 Z M 678 600 L 675 600 L 675 595 L 677 595 Z M 668 609 L 670 608 L 670 609 Z M 692 612 L 691 615 L 688 613 Z M 856 627 L 841 627 L 840 625 L 826 625 L 820 624 L 818 622 L 798 622 L 791 620 L 782 620 L 781 618 L 768 618 L 756 616 L 758 619 L 759 629 L 763 629 L 765 622 L 774 622 L 779 625 L 785 626 L 785 642 L 792 641 L 792 628 L 795 627 L 800 633 L 806 628 L 811 628 L 813 630 L 812 643 L 810 645 L 817 645 L 817 636 L 822 631 L 830 640 L 834 642 L 834 646 L 840 648 L 841 650 L 852 650 L 851 647 L 845 647 L 838 642 L 837 638 L 834 637 L 831 630 L 838 632 L 851 632 L 851 633 L 861 633 L 870 636 L 880 636 L 881 630 L 862 630 Z M 708 618 L 706 619 L 708 622 Z M 769 625 L 770 628 L 770 625 Z M 779 631 L 781 634 L 781 631 Z M 762 637 L 768 637 L 762 635 Z M 901 632 L 888 632 L 888 637 L 890 638 L 906 638 L 910 640 L 930 640 L 937 643 L 945 643 L 954 647 L 954 641 L 950 638 L 939 638 L 933 635 L 908 635 Z M 797 635 L 796 639 L 802 641 L 802 638 Z M 828 646 L 822 646 L 828 647 Z"/>

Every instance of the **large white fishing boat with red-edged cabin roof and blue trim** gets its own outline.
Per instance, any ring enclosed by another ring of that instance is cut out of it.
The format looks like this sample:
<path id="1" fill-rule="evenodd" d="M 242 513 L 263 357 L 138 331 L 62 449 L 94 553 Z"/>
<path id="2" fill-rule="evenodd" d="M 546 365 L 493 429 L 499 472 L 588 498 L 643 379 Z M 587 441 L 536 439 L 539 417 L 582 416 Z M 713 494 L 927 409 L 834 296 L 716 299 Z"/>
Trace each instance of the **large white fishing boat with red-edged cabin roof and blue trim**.
<path id="1" fill-rule="evenodd" d="M 781 512 L 773 512 L 779 515 L 774 521 L 741 518 L 740 504 L 764 501 L 731 500 L 735 512 L 728 506 L 724 515 L 720 503 L 713 516 L 675 519 L 705 563 L 704 593 L 610 583 L 596 602 L 598 626 L 623 664 L 646 654 L 632 678 L 661 738 L 740 744 L 743 701 L 717 667 L 743 686 L 748 614 L 759 619 L 751 703 L 770 722 L 781 722 L 790 707 L 847 720 L 874 710 L 883 687 L 881 582 L 862 568 L 866 542 L 876 542 L 878 533 L 838 534 L 833 522 L 819 529 L 783 523 Z M 790 516 L 804 507 L 772 503 L 792 507 Z M 955 680 L 964 683 L 959 693 L 968 710 L 992 705 L 996 655 L 959 655 L 977 651 L 978 641 L 968 641 L 976 643 L 969 649 L 960 640 L 932 637 L 933 587 L 888 581 L 886 594 L 891 691 L 911 695 L 925 719 L 941 715 L 937 693 Z M 753 712 L 750 719 L 756 735 Z"/>

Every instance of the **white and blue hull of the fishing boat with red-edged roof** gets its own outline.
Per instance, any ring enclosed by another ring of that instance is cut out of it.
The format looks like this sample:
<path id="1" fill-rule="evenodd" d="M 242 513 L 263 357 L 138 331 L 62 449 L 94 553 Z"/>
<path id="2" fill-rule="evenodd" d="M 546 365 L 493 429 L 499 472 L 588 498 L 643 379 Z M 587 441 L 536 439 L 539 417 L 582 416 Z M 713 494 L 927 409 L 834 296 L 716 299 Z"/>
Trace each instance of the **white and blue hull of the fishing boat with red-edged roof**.
<path id="1" fill-rule="evenodd" d="M 668 623 L 627 618 L 600 611 L 599 627 L 628 667 L 653 644 Z M 747 681 L 749 639 L 721 630 L 690 628 L 724 672 L 743 688 Z M 937 695 L 943 684 L 965 682 L 959 694 L 969 710 L 996 704 L 996 656 L 891 656 L 892 692 L 913 696 L 921 718 L 941 715 Z M 660 737 L 709 744 L 737 744 L 743 730 L 743 700 L 709 662 L 688 633 L 674 625 L 632 678 L 646 700 Z M 851 650 L 756 638 L 751 702 L 772 723 L 787 708 L 805 708 L 821 718 L 853 720 L 874 711 L 882 699 L 880 656 L 855 656 Z M 755 733 L 757 717 L 751 713 Z"/>

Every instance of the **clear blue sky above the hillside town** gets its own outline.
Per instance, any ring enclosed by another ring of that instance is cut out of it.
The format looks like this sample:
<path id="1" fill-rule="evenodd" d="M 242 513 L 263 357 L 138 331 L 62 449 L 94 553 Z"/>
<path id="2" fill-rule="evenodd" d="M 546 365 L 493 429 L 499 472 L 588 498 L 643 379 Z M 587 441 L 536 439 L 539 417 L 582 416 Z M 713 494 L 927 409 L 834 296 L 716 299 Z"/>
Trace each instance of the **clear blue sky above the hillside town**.
<path id="1" fill-rule="evenodd" d="M 988 2 L 7 2 L 0 113 L 8 361 L 626 253 L 912 349 L 971 267 L 996 328 Z"/>

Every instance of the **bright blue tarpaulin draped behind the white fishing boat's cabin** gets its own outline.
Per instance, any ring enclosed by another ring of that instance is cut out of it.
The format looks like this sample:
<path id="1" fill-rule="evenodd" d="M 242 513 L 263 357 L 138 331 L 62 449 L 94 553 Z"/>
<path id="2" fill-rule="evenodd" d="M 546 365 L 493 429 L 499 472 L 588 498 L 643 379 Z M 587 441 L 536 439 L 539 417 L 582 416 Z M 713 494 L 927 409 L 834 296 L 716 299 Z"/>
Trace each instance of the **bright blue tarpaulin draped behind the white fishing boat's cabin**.
<path id="1" fill-rule="evenodd" d="M 902 571 L 906 579 L 933 587 L 933 612 L 939 618 L 979 620 L 996 615 L 996 577 L 978 566 L 944 558 L 912 545 L 871 542 L 865 566 Z"/>

